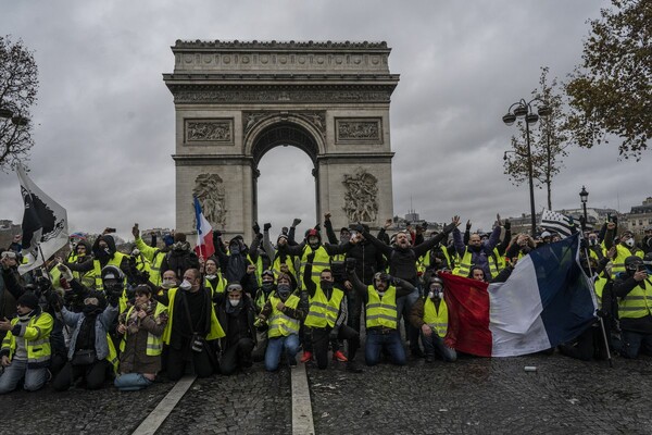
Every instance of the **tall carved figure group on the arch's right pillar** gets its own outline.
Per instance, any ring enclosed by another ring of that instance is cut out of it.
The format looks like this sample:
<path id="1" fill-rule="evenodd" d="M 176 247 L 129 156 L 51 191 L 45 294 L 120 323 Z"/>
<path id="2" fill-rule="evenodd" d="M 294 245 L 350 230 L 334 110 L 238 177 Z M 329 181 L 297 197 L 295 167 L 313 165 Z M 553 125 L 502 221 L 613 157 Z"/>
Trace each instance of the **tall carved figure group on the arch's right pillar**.
<path id="1" fill-rule="evenodd" d="M 378 215 L 378 179 L 358 167 L 353 175 L 344 174 L 342 182 L 344 194 L 344 213 L 349 222 L 375 222 Z"/>

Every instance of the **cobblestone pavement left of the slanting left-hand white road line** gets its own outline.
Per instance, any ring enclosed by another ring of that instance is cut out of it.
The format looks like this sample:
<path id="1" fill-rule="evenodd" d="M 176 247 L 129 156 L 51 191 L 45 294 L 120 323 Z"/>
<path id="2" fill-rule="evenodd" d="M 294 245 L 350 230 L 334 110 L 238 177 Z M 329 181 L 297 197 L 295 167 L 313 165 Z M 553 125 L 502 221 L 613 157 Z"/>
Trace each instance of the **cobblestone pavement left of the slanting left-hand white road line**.
<path id="1" fill-rule="evenodd" d="M 95 391 L 13 391 L 0 396 L 0 434 L 130 434 L 173 386 L 156 382 L 141 391 L 121 393 L 106 383 Z M 5 422 L 9 432 L 3 432 Z"/>

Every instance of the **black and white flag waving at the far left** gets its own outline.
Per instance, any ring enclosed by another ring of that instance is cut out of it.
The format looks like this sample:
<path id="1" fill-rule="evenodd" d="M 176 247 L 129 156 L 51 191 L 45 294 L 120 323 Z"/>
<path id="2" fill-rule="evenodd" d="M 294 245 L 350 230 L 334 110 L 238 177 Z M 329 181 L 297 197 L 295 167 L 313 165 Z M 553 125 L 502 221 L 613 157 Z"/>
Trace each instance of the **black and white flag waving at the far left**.
<path id="1" fill-rule="evenodd" d="M 16 167 L 21 195 L 25 203 L 23 214 L 23 258 L 26 262 L 18 266 L 25 274 L 43 263 L 68 241 L 67 213 L 52 198 L 47 196 L 27 176 L 25 169 Z"/>

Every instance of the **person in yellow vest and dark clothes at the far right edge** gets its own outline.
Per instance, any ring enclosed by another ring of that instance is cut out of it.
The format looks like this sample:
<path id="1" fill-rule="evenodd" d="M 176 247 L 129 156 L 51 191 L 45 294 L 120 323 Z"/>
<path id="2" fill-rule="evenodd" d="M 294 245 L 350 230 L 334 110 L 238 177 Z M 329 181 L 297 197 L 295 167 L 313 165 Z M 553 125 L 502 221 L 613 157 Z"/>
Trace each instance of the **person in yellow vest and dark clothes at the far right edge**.
<path id="1" fill-rule="evenodd" d="M 623 331 L 622 353 L 625 358 L 636 358 L 640 350 L 652 355 L 652 281 L 638 256 L 627 257 L 624 264 L 625 272 L 613 285 Z"/>

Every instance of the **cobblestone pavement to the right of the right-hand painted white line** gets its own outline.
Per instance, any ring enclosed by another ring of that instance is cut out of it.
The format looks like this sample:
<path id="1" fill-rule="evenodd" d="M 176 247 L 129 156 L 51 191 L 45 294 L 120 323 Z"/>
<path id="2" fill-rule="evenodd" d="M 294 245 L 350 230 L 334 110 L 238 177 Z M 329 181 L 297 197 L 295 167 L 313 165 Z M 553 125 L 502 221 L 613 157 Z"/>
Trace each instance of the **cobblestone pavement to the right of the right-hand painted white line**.
<path id="1" fill-rule="evenodd" d="M 560 355 L 467 357 L 308 374 L 319 435 L 652 433 L 650 359 L 610 369 Z"/>

